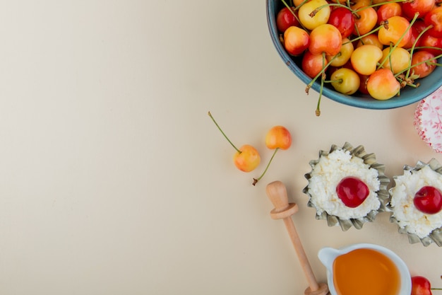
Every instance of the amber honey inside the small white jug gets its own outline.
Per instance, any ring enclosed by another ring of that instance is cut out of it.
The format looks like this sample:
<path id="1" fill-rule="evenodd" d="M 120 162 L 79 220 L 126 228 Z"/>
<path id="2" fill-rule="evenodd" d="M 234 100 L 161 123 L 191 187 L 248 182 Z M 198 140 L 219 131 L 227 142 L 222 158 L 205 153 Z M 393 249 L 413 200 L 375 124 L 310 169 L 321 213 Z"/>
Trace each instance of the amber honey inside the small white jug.
<path id="1" fill-rule="evenodd" d="M 398 267 L 383 253 L 368 248 L 335 258 L 333 283 L 338 295 L 398 295 Z"/>

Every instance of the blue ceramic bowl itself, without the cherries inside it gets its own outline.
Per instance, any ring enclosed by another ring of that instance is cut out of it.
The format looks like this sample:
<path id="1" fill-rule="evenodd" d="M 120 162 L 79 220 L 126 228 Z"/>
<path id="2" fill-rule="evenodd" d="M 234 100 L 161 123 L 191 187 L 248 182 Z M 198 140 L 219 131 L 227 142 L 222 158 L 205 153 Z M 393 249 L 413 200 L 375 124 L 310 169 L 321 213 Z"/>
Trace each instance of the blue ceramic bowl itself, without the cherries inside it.
<path id="1" fill-rule="evenodd" d="M 301 60 L 298 57 L 292 57 L 286 51 L 282 43 L 280 42 L 280 33 L 276 28 L 276 15 L 280 9 L 284 7 L 281 0 L 266 0 L 267 5 L 267 22 L 268 29 L 270 31 L 270 37 L 272 37 L 273 45 L 275 45 L 278 54 L 282 60 L 287 64 L 289 69 L 299 78 L 301 81 L 310 83 L 311 78 L 304 74 L 301 69 Z M 442 58 L 438 59 L 438 62 L 442 62 Z M 400 108 L 405 105 L 416 103 L 431 93 L 436 91 L 442 86 L 442 66 L 437 66 L 433 73 L 426 76 L 423 79 L 419 79 L 420 86 L 417 88 L 405 87 L 400 91 L 400 96 L 395 96 L 389 100 L 376 100 L 368 95 L 362 93 L 354 93 L 352 96 L 335 91 L 332 86 L 327 85 L 323 88 L 323 96 L 343 103 L 345 105 L 351 105 L 357 108 L 366 108 L 374 110 L 386 110 L 392 108 Z M 316 81 L 312 88 L 319 92 L 321 84 Z"/>

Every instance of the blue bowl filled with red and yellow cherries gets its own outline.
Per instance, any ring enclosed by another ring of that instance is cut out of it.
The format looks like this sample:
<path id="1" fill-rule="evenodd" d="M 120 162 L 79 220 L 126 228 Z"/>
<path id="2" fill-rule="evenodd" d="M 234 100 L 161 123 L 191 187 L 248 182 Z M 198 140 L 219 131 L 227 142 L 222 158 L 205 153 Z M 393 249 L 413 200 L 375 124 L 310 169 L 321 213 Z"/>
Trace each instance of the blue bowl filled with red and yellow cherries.
<path id="1" fill-rule="evenodd" d="M 266 0 L 273 45 L 305 91 L 358 108 L 416 103 L 442 86 L 438 0 Z"/>

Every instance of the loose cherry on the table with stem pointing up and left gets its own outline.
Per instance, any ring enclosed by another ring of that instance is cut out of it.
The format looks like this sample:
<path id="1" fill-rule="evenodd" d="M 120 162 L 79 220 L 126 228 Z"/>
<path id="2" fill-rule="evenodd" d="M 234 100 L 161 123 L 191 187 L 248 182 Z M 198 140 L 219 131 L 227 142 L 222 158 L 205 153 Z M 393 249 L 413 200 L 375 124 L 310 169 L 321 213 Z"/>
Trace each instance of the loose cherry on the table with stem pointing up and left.
<path id="1" fill-rule="evenodd" d="M 233 163 L 237 168 L 244 172 L 250 172 L 254 170 L 256 167 L 258 167 L 259 163 L 261 163 L 261 156 L 259 155 L 258 151 L 249 144 L 244 144 L 241 146 L 241 148 L 237 149 L 237 146 L 235 146 L 232 141 L 230 141 L 229 137 L 222 131 L 220 125 L 215 121 L 215 118 L 212 116 L 210 112 L 208 112 L 208 115 L 210 119 L 215 123 L 216 127 L 220 130 L 222 135 L 229 141 L 229 144 L 231 144 L 234 149 L 237 151 L 233 155 Z"/>

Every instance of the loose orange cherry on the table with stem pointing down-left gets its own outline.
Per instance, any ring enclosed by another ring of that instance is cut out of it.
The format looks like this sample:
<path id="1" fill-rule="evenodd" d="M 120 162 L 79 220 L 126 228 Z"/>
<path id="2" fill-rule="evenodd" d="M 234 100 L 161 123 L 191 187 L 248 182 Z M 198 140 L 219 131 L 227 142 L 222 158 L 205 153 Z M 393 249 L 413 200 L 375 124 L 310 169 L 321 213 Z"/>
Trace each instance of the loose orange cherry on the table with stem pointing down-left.
<path id="1" fill-rule="evenodd" d="M 268 149 L 274 149 L 275 151 L 273 151 L 273 155 L 270 158 L 270 161 L 268 161 L 267 166 L 265 167 L 261 176 L 258 178 L 253 178 L 252 185 L 256 185 L 256 183 L 263 178 L 279 149 L 286 150 L 292 146 L 292 134 L 290 134 L 289 130 L 284 126 L 274 126 L 270 128 L 267 134 L 265 134 L 265 146 L 267 146 Z"/>

